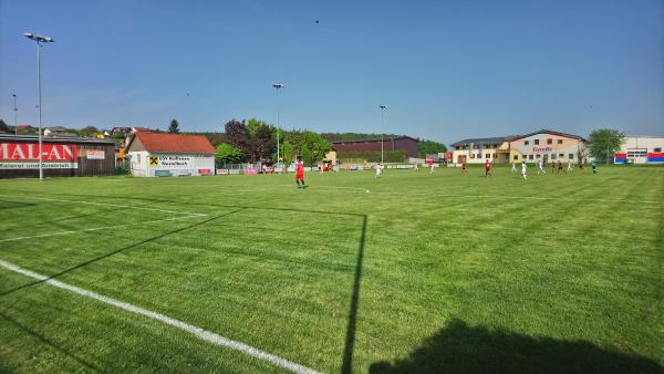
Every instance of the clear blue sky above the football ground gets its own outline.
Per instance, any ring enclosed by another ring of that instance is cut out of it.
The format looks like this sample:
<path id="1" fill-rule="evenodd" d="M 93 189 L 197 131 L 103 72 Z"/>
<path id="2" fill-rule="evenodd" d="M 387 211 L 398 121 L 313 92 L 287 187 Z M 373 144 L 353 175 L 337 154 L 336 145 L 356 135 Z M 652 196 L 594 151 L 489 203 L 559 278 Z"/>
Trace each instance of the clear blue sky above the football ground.
<path id="1" fill-rule="evenodd" d="M 315 21 L 319 23 L 315 23 Z M 664 133 L 664 1 L 0 0 L 0 117 L 221 131 L 230 118 L 453 143 Z"/>

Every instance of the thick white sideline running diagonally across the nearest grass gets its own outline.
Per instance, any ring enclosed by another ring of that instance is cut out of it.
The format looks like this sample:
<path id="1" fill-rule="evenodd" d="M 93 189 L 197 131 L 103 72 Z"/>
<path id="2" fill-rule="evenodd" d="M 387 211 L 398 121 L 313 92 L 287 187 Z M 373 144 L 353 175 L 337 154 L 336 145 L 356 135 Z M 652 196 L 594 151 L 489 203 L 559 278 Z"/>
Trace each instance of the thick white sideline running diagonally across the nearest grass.
<path id="1" fill-rule="evenodd" d="M 157 312 L 153 312 L 153 311 L 143 309 L 141 307 L 132 305 L 129 303 L 126 303 L 126 302 L 123 302 L 123 301 L 120 301 L 120 300 L 107 298 L 107 297 L 104 297 L 103 294 L 98 294 L 96 292 L 84 290 L 84 289 L 75 287 L 75 285 L 66 284 L 66 283 L 63 283 L 63 282 L 56 281 L 54 279 L 50 279 L 46 276 L 38 274 L 38 273 L 33 272 L 33 271 L 20 268 L 20 267 L 15 266 L 15 264 L 12 264 L 12 263 L 9 263 L 9 262 L 2 261 L 2 260 L 0 260 L 0 266 L 3 267 L 3 268 L 6 268 L 6 269 L 8 269 L 8 270 L 17 272 L 19 274 L 23 274 L 23 276 L 37 279 L 37 280 L 42 281 L 44 283 L 49 283 L 49 284 L 51 284 L 53 287 L 56 287 L 59 289 L 63 289 L 63 290 L 66 290 L 66 291 L 70 291 L 70 292 L 73 292 L 73 293 L 76 293 L 76 294 L 80 294 L 80 295 L 83 295 L 83 297 L 86 297 L 86 298 L 98 300 L 101 302 L 104 302 L 106 304 L 111 304 L 113 307 L 123 309 L 125 311 L 128 311 L 128 312 L 132 312 L 132 313 L 136 313 L 136 314 L 143 315 L 143 316 L 147 316 L 149 319 L 159 321 L 159 322 L 165 323 L 167 325 L 170 325 L 173 328 L 176 328 L 176 329 L 183 330 L 185 332 L 188 332 L 190 334 L 194 334 L 198 339 L 204 340 L 204 341 L 206 341 L 208 343 L 212 343 L 212 344 L 219 345 L 219 346 L 227 346 L 227 347 L 234 349 L 236 351 L 240 351 L 240 352 L 246 353 L 246 354 L 248 354 L 250 356 L 253 356 L 253 357 L 257 357 L 257 359 L 270 362 L 270 363 L 272 363 L 272 364 L 274 364 L 277 366 L 280 366 L 282 368 L 289 370 L 289 371 L 291 371 L 293 373 L 320 374 L 319 372 L 317 372 L 317 371 L 314 371 L 312 368 L 309 368 L 307 366 L 302 366 L 300 364 L 295 364 L 294 362 L 288 361 L 286 359 L 281 359 L 281 357 L 279 357 L 277 355 L 273 355 L 271 353 L 261 351 L 261 350 L 256 349 L 256 347 L 253 347 L 251 345 L 248 345 L 248 344 L 245 344 L 245 343 L 241 343 L 241 342 L 238 342 L 238 341 L 234 341 L 234 340 L 230 340 L 228 337 L 224 337 L 221 335 L 217 335 L 214 332 L 210 332 L 210 331 L 197 328 L 195 325 L 191 325 L 191 324 L 188 324 L 186 322 L 173 319 L 170 316 L 167 316 L 167 315 L 164 315 L 164 314 L 160 314 L 160 313 L 157 313 Z"/>

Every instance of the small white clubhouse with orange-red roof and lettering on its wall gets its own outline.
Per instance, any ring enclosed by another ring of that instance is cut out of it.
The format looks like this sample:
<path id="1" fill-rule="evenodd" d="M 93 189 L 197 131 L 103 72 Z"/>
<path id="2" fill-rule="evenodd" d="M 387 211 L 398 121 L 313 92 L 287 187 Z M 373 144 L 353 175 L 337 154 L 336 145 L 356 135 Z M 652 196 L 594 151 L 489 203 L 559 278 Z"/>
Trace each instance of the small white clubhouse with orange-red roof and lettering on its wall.
<path id="1" fill-rule="evenodd" d="M 215 174 L 215 147 L 205 136 L 136 132 L 126 147 L 132 175 L 178 177 Z"/>

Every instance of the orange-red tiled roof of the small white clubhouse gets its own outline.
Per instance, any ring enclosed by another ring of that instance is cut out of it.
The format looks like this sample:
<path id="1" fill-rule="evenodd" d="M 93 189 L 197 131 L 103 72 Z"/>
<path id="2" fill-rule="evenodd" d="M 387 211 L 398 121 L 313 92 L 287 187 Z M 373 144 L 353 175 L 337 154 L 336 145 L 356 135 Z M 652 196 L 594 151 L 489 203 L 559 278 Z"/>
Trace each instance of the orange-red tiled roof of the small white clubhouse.
<path id="1" fill-rule="evenodd" d="M 127 149 L 138 138 L 145 150 L 156 153 L 207 153 L 217 152 L 207 137 L 201 135 L 181 135 L 169 133 L 137 132 Z"/>

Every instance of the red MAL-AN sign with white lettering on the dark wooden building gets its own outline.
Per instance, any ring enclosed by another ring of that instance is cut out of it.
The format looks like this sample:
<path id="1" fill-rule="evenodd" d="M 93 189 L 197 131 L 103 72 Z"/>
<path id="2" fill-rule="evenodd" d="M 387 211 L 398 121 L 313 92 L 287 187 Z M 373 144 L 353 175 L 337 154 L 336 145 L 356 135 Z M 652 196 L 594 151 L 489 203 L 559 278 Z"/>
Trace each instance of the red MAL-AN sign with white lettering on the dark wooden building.
<path id="1" fill-rule="evenodd" d="M 79 153 L 75 145 L 42 144 L 42 167 L 46 169 L 75 169 Z M 39 168 L 39 144 L 0 143 L 0 169 Z"/>

